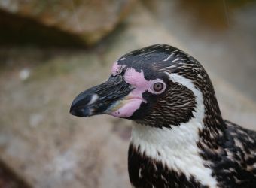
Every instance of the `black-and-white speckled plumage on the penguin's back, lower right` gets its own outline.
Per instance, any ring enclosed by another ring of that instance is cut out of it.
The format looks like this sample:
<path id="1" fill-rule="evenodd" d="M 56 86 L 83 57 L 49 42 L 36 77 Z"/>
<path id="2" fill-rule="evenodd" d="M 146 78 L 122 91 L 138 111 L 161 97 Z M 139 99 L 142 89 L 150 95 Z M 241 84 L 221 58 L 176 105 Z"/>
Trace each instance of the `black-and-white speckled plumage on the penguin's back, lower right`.
<path id="1" fill-rule="evenodd" d="M 210 161 L 213 176 L 220 187 L 255 187 L 256 134 L 224 120 L 224 132 L 214 141 L 206 143 L 203 135 L 198 143 L 200 155 Z"/>

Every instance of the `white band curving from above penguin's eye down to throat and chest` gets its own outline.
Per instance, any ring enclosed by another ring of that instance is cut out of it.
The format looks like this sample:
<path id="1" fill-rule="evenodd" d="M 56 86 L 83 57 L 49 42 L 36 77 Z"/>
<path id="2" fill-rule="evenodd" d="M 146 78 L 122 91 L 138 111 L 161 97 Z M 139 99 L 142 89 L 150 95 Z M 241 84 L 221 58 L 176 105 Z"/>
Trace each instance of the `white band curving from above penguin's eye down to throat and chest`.
<path id="1" fill-rule="evenodd" d="M 133 126 L 131 142 L 140 146 L 140 151 L 157 161 L 163 162 L 175 171 L 183 172 L 187 178 L 193 175 L 203 185 L 215 187 L 217 182 L 212 177 L 212 170 L 205 167 L 205 162 L 199 155 L 197 142 L 199 130 L 203 129 L 204 105 L 202 92 L 194 83 L 178 74 L 170 74 L 169 80 L 180 83 L 194 92 L 196 107 L 192 117 L 187 123 L 172 126 L 172 129 L 162 129 L 151 126 Z M 158 154 L 160 153 L 160 155 Z"/>

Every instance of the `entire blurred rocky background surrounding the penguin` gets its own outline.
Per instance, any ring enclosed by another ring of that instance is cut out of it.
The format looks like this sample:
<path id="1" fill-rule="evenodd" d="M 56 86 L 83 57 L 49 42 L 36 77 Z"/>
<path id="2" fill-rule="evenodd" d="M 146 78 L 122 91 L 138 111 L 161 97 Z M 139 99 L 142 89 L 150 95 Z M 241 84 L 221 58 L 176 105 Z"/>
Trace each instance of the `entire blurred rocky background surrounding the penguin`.
<path id="1" fill-rule="evenodd" d="M 0 187 L 130 187 L 131 122 L 69 107 L 150 44 L 198 59 L 224 118 L 256 129 L 256 1 L 0 0 Z"/>

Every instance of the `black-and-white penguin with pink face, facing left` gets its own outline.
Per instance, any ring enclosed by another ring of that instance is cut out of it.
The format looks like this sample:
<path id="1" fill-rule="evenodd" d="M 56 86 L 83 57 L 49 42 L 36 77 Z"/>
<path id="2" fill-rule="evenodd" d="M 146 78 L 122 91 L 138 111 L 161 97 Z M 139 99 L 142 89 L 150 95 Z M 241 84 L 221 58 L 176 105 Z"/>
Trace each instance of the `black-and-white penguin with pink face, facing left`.
<path id="1" fill-rule="evenodd" d="M 256 132 L 222 118 L 205 69 L 176 47 L 121 56 L 70 113 L 136 122 L 128 151 L 133 187 L 256 187 Z"/>

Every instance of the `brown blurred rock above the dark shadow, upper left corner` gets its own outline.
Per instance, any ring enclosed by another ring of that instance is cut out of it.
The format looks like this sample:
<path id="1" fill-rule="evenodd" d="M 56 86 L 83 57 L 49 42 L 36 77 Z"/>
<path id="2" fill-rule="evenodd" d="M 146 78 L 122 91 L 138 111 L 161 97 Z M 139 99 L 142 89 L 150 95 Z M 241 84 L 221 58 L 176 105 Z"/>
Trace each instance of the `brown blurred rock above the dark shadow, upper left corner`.
<path id="1" fill-rule="evenodd" d="M 78 35 L 86 44 L 96 44 L 120 23 L 134 0 L 0 0 L 0 10 Z"/>

